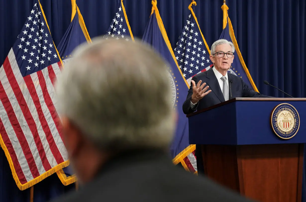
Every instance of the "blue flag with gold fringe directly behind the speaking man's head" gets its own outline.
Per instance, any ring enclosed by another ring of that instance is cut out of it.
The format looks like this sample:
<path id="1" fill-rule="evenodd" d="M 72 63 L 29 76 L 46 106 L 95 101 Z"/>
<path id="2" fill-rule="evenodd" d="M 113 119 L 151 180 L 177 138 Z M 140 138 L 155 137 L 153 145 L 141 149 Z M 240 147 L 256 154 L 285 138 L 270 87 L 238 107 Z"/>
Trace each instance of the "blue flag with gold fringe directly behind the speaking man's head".
<path id="1" fill-rule="evenodd" d="M 244 63 L 241 52 L 239 50 L 233 26 L 227 13 L 227 10 L 229 8 L 226 6 L 226 4 L 223 4 L 221 8 L 223 10 L 223 31 L 219 39 L 226 39 L 228 41 L 231 41 L 235 46 L 234 61 L 228 72 L 239 76 L 246 84 L 248 84 L 250 88 L 253 88 L 255 91 L 259 92 L 255 83 L 253 82 L 253 79 L 248 71 L 247 66 Z"/>

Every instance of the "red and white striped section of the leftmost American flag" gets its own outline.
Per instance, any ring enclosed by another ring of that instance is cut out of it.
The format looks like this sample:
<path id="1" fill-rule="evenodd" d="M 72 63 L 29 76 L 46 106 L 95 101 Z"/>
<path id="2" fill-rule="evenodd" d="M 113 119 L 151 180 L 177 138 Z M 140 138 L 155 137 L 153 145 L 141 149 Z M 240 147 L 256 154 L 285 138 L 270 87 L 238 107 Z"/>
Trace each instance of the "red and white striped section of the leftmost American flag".
<path id="1" fill-rule="evenodd" d="M 11 49 L 0 69 L 0 134 L 21 184 L 68 160 L 54 106 L 59 64 L 22 77 Z"/>

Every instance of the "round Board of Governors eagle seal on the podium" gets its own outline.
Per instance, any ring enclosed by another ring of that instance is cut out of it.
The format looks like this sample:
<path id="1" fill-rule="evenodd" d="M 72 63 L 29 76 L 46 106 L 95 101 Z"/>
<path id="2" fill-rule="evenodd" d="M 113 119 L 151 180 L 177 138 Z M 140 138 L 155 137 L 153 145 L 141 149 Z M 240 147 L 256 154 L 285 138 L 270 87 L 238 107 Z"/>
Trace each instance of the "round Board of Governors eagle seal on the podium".
<path id="1" fill-rule="evenodd" d="M 272 111 L 271 126 L 274 133 L 282 139 L 290 139 L 300 127 L 300 116 L 296 108 L 288 103 L 276 106 Z"/>

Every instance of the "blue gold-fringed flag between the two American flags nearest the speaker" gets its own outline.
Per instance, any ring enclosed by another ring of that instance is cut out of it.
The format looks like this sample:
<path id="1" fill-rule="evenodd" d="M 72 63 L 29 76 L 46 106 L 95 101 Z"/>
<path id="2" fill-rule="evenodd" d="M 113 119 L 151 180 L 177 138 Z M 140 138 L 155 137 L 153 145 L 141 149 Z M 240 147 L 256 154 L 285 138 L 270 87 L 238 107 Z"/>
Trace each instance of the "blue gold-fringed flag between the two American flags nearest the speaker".
<path id="1" fill-rule="evenodd" d="M 172 88 L 173 108 L 177 111 L 178 121 L 174 140 L 170 147 L 173 163 L 179 162 L 184 166 L 183 159 L 195 150 L 194 145 L 189 145 L 188 119 L 183 113 L 182 105 L 187 97 L 188 83 L 181 72 L 171 48 L 166 30 L 157 9 L 157 2 L 152 1 L 152 12 L 147 23 L 142 40 L 149 43 L 170 64 L 168 71 L 169 83 Z M 185 165 L 186 166 L 186 165 Z M 184 167 L 185 167 L 184 166 Z M 185 167 L 186 169 L 186 167 Z"/>

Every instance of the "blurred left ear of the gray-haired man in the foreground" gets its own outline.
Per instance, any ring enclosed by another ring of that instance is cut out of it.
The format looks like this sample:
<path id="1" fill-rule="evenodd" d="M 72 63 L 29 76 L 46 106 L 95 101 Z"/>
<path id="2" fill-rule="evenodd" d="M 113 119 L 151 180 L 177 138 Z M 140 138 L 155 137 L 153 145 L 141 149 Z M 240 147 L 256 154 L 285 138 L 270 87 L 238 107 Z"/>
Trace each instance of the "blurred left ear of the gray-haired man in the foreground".
<path id="1" fill-rule="evenodd" d="M 61 117 L 64 144 L 69 154 L 69 157 L 73 157 L 78 152 L 79 146 L 82 141 L 81 131 L 76 125 L 70 121 L 68 117 Z"/>

